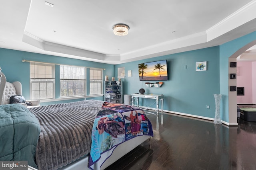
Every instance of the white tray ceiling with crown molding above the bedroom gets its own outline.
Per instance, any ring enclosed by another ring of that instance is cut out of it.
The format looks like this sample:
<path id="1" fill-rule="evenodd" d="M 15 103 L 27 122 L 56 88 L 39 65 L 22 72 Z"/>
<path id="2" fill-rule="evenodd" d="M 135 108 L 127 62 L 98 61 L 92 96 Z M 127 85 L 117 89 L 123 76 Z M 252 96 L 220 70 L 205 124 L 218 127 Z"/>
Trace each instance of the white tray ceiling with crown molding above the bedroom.
<path id="1" fill-rule="evenodd" d="M 0 1 L 0 48 L 100 63 L 212 47 L 256 31 L 256 0 Z M 114 35 L 116 23 L 129 25 L 128 35 Z"/>

